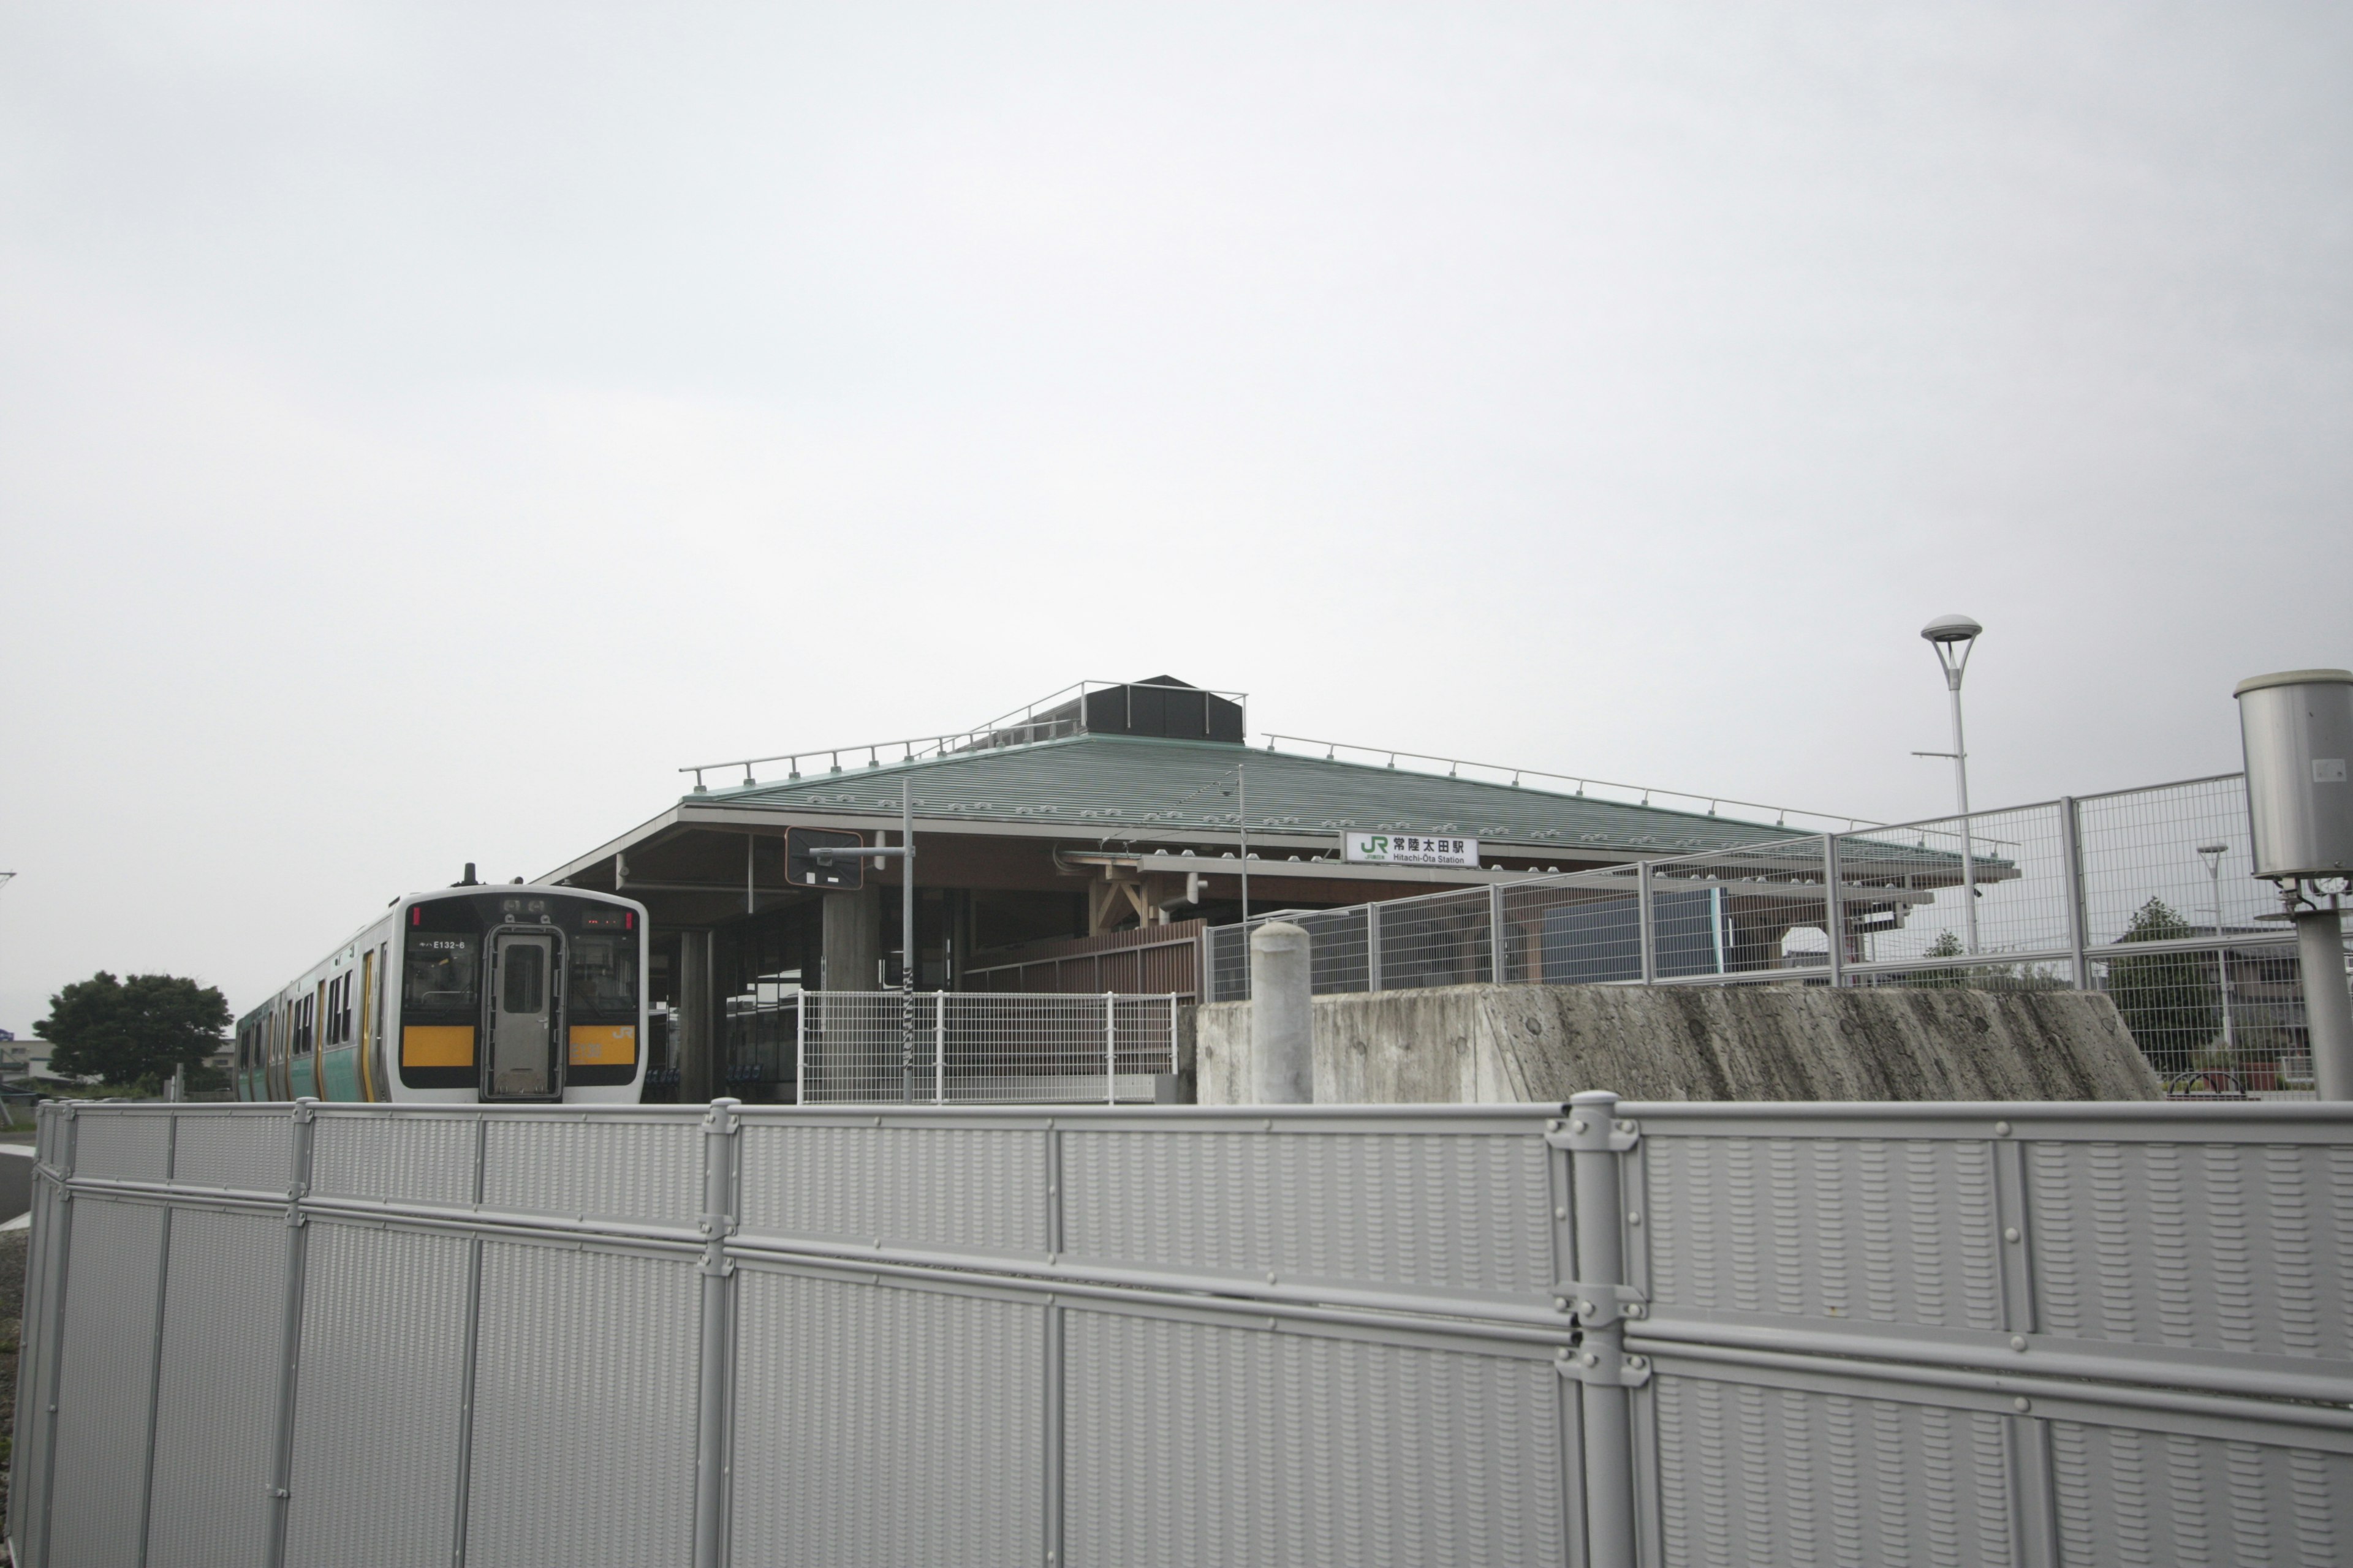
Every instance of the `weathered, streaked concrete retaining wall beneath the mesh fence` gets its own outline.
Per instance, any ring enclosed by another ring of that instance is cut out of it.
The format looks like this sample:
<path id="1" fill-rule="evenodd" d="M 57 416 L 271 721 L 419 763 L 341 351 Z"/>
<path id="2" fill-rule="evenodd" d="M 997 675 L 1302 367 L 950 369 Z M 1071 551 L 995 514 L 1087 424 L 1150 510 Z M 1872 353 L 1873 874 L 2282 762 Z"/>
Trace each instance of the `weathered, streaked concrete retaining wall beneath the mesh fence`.
<path id="1" fill-rule="evenodd" d="M 1195 1016 L 1195 1093 L 1247 1105 L 1249 1004 Z M 2099 992 L 1447 985 L 1315 999 L 1327 1105 L 2155 1100 Z"/>

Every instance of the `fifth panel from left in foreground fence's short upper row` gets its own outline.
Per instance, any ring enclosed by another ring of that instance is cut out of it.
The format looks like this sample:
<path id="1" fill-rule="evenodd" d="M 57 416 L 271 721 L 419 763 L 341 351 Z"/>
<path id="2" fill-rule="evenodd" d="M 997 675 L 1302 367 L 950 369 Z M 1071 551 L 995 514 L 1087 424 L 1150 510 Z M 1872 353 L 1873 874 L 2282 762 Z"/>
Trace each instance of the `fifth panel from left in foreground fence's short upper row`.
<path id="1" fill-rule="evenodd" d="M 741 1229 L 838 1246 L 1045 1258 L 1045 1124 L 741 1112 Z M 953 1201 L 951 1201 L 953 1194 Z"/>

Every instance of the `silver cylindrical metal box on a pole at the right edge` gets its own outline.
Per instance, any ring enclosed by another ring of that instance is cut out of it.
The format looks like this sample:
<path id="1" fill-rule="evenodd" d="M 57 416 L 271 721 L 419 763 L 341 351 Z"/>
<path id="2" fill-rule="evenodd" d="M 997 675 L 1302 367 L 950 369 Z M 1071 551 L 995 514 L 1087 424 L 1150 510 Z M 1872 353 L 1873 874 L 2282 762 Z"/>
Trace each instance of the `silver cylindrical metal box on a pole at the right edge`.
<path id="1" fill-rule="evenodd" d="M 2238 684 L 2254 875 L 2353 875 L 2353 670 L 2282 670 Z"/>

